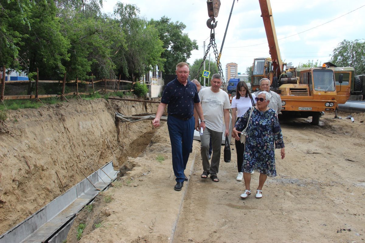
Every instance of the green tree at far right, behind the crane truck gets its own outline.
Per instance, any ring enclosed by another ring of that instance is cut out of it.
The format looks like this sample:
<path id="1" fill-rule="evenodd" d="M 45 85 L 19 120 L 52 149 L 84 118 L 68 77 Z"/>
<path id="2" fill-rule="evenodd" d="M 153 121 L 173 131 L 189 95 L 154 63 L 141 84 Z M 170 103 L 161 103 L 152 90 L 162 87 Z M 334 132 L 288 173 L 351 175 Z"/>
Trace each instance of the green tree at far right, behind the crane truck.
<path id="1" fill-rule="evenodd" d="M 333 50 L 330 62 L 339 67 L 353 67 L 356 74 L 365 73 L 365 41 L 343 40 Z"/>

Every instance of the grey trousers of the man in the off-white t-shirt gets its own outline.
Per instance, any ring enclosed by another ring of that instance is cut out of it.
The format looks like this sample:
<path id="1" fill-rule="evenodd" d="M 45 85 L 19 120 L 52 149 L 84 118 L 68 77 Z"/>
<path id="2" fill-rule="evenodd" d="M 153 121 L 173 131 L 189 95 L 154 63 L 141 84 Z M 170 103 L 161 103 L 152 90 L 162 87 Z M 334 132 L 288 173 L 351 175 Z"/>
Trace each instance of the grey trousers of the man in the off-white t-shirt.
<path id="1" fill-rule="evenodd" d="M 201 159 L 203 160 L 203 170 L 208 171 L 211 175 L 216 175 L 218 173 L 222 135 L 223 132 L 216 132 L 209 128 L 205 128 L 203 135 L 200 136 L 200 154 Z M 208 160 L 210 138 L 212 138 L 213 147 L 211 164 L 209 164 Z"/>

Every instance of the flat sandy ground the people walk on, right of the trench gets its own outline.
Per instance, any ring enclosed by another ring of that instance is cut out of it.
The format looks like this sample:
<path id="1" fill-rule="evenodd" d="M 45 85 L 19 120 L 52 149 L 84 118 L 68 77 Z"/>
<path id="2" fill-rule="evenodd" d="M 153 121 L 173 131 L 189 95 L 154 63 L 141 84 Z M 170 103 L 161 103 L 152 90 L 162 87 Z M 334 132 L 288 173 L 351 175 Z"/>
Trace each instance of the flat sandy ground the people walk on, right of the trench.
<path id="1" fill-rule="evenodd" d="M 239 197 L 244 184 L 235 180 L 235 150 L 230 163 L 221 154 L 220 182 L 214 183 L 200 178 L 198 141 L 185 171 L 192 168 L 187 190 L 174 191 L 163 124 L 139 157 L 128 157 L 132 170 L 100 195 L 97 211 L 80 213 L 68 242 L 77 242 L 79 223 L 87 224 L 80 243 L 364 242 L 365 114 L 354 117 L 352 123 L 326 114 L 319 126 L 310 119 L 281 121 L 286 157 L 276 154 L 278 176 L 268 178 L 262 199 L 253 193 L 245 200 Z M 255 173 L 251 189 L 257 184 Z"/>

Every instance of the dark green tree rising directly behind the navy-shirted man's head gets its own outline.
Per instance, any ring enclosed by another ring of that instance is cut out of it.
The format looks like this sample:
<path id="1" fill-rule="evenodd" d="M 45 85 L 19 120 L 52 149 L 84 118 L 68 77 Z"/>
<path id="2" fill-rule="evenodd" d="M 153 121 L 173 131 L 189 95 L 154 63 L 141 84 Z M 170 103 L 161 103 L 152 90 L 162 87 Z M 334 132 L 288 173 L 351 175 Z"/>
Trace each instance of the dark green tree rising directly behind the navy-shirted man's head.
<path id="1" fill-rule="evenodd" d="M 191 56 L 191 51 L 198 49 L 196 40 L 191 40 L 188 34 L 183 33 L 186 28 L 184 23 L 171 22 L 166 16 L 162 16 L 160 20 L 151 19 L 149 24 L 157 28 L 160 40 L 164 43 L 165 51 L 161 58 L 166 59 L 166 62 L 163 70 L 165 74 L 174 74 L 176 64 L 186 62 Z"/>

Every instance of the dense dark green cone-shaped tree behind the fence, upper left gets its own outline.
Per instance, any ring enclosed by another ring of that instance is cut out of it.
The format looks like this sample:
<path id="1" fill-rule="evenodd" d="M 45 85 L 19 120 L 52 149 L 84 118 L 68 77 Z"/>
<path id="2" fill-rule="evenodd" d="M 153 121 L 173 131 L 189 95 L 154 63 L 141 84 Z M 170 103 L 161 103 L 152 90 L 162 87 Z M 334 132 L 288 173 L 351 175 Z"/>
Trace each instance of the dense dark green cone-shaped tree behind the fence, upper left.
<path id="1" fill-rule="evenodd" d="M 68 60 L 69 40 L 60 32 L 54 1 L 35 1 L 30 9 L 28 26 L 22 26 L 22 45 L 19 46 L 19 62 L 22 70 L 35 72 L 40 78 L 58 77 L 65 72 L 62 60 Z"/>

